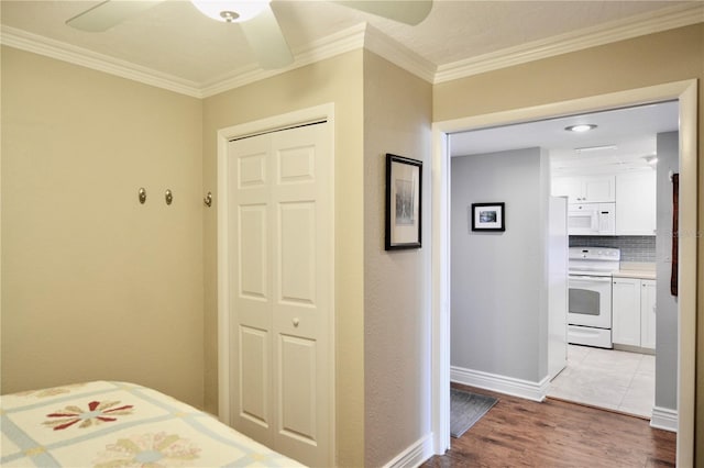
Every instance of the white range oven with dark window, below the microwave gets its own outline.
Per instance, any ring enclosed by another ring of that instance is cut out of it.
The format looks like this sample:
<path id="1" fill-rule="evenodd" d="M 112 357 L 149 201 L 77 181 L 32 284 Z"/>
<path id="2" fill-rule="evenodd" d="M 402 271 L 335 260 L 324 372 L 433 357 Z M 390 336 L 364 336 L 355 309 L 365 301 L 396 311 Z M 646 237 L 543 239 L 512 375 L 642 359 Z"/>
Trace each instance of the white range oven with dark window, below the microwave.
<path id="1" fill-rule="evenodd" d="M 612 274 L 620 250 L 570 247 L 568 343 L 612 348 Z"/>

